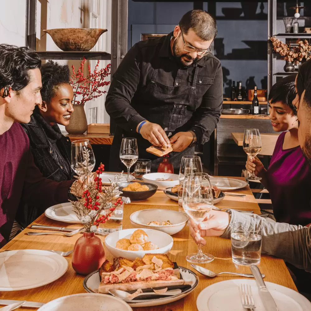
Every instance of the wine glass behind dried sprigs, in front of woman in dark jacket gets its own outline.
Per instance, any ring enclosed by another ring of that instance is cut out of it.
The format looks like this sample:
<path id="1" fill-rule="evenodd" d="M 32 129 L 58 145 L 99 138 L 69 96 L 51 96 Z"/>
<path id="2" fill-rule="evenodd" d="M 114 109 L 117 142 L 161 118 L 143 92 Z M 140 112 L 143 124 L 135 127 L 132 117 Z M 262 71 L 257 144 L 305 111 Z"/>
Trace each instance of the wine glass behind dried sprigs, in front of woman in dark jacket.
<path id="1" fill-rule="evenodd" d="M 84 154 L 83 154 L 84 153 Z M 71 167 L 78 176 L 83 176 L 82 163 L 88 154 L 87 173 L 91 173 L 95 166 L 95 156 L 88 139 L 75 140 L 71 143 Z"/>

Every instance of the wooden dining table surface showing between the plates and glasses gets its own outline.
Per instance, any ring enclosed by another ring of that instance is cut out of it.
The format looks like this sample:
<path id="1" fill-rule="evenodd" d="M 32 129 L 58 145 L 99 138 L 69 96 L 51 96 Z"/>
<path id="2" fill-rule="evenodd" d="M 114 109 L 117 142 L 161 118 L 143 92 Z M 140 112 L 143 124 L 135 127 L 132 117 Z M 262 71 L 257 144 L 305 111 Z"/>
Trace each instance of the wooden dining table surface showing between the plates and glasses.
<path id="1" fill-rule="evenodd" d="M 253 202 L 251 199 L 250 189 L 244 188 L 241 191 L 235 191 L 236 193 L 246 193 L 247 198 L 235 198 L 226 197 L 222 202 L 223 206 L 226 207 L 237 207 L 239 209 L 247 208 L 253 209 L 255 213 L 259 213 L 260 209 L 257 203 Z M 152 199 L 153 198 L 153 199 Z M 149 199 L 149 203 L 146 202 L 134 202 L 128 204 L 124 207 L 124 217 L 123 217 L 123 228 L 131 228 L 129 221 L 129 216 L 137 210 L 145 208 L 165 208 L 171 210 L 178 210 L 177 202 L 171 202 L 166 200 L 164 193 L 156 193 Z M 148 200 L 146 200 L 148 201 Z M 165 204 L 168 203 L 168 204 Z M 220 203 L 219 203 L 220 204 Z M 220 205 L 217 206 L 220 207 Z M 35 222 L 35 224 L 40 225 L 54 225 L 63 226 L 64 224 L 58 221 L 54 221 L 46 218 L 44 215 L 40 216 Z M 81 225 L 68 225 L 68 227 L 79 228 Z M 68 251 L 71 250 L 76 242 L 76 240 L 81 236 L 80 234 L 74 235 L 72 237 L 66 237 L 63 235 L 41 235 L 41 236 L 30 236 L 26 235 L 27 231 L 37 231 L 42 232 L 42 230 L 35 230 L 26 228 L 20 234 L 18 234 L 12 241 L 7 243 L 1 250 L 5 249 L 53 249 Z M 104 237 L 100 236 L 102 241 Z M 186 255 L 194 253 L 197 251 L 197 245 L 193 242 L 193 239 L 189 236 L 189 229 L 187 226 L 183 228 L 179 233 L 173 236 L 174 245 L 169 252 L 169 257 L 172 261 L 177 262 L 180 266 L 187 267 L 193 270 L 185 259 Z M 203 251 L 209 252 L 215 256 L 215 260 L 204 267 L 207 267 L 211 271 L 221 272 L 221 271 L 232 271 L 241 273 L 250 273 L 248 267 L 237 267 L 234 266 L 231 260 L 231 246 L 229 239 L 222 239 L 220 237 L 213 237 L 207 239 L 207 245 L 203 248 Z M 112 256 L 108 251 L 106 252 L 108 259 L 112 260 Z M 82 286 L 82 281 L 84 276 L 77 275 L 71 266 L 71 255 L 65 257 L 68 261 L 68 271 L 57 281 L 51 284 L 41 286 L 39 288 L 34 288 L 30 290 L 13 291 L 13 292 L 0 292 L 0 299 L 18 299 L 18 300 L 29 300 L 47 303 L 58 297 L 65 295 L 85 293 Z M 290 274 L 285 266 L 283 260 L 274 258 L 271 256 L 262 255 L 261 263 L 259 268 L 262 273 L 266 275 L 265 281 L 274 282 L 280 285 L 284 285 L 293 290 L 296 290 L 295 284 L 290 277 Z M 160 305 L 156 307 L 145 307 L 145 308 L 134 308 L 136 311 L 152 310 L 152 311 L 188 311 L 196 310 L 196 299 L 198 294 L 208 285 L 216 282 L 230 280 L 232 276 L 224 275 L 217 276 L 213 279 L 208 279 L 205 276 L 199 275 L 199 284 L 196 289 L 189 294 L 187 297 L 175 301 L 170 304 Z M 27 308 L 20 308 L 19 310 L 28 310 Z"/>

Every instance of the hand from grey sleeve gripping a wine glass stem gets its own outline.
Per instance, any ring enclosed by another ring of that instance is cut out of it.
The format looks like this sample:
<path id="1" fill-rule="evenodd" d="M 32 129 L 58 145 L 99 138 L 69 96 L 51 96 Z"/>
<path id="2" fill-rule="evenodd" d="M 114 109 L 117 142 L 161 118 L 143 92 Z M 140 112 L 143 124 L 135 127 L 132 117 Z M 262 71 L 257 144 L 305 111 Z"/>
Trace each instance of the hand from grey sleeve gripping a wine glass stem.
<path id="1" fill-rule="evenodd" d="M 211 210 L 200 224 L 196 224 L 190 217 L 190 235 L 197 244 L 205 245 L 206 236 L 220 236 L 224 234 L 230 223 L 230 215 L 223 211 Z"/>

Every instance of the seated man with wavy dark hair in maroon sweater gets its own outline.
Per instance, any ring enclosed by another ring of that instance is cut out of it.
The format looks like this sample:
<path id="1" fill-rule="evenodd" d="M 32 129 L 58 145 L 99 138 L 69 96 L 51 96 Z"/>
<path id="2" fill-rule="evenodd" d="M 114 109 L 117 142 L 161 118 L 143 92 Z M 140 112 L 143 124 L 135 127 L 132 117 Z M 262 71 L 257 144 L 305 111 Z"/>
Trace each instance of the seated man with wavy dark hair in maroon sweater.
<path id="1" fill-rule="evenodd" d="M 67 202 L 73 183 L 42 176 L 18 123 L 28 123 L 35 105 L 41 104 L 40 67 L 36 53 L 0 44 L 0 247 L 9 239 L 21 199 L 42 207 Z"/>

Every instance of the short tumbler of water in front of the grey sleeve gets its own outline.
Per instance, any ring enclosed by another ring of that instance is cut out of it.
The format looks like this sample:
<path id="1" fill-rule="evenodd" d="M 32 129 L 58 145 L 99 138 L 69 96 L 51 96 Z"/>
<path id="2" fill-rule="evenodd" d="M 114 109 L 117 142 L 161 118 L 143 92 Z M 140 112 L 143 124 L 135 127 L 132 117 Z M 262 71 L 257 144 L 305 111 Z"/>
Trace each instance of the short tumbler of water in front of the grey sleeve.
<path id="1" fill-rule="evenodd" d="M 232 261 L 237 265 L 257 265 L 260 263 L 262 226 L 250 222 L 231 225 Z"/>

